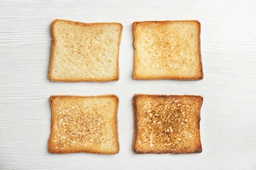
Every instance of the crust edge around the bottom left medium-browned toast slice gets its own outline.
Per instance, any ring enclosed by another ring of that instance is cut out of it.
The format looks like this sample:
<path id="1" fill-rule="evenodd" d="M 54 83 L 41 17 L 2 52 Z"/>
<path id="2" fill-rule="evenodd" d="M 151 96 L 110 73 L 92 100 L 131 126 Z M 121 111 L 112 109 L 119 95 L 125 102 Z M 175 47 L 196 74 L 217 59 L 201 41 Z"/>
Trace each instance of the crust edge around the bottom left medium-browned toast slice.
<path id="1" fill-rule="evenodd" d="M 115 131 L 115 142 L 116 142 L 116 148 L 117 151 L 116 152 L 94 152 L 91 150 L 56 150 L 53 146 L 53 133 L 54 133 L 54 120 L 55 120 L 55 112 L 54 112 L 54 105 L 53 105 L 53 101 L 56 97 L 111 97 L 112 99 L 115 99 L 115 120 L 114 120 L 114 131 Z M 51 104 L 51 110 L 52 110 L 52 118 L 51 118 L 51 135 L 49 137 L 49 143 L 48 143 L 48 148 L 49 148 L 49 152 L 51 152 L 52 154 L 70 154 L 70 153 L 79 153 L 79 152 L 85 152 L 85 153 L 91 153 L 91 154 L 118 154 L 119 150 L 120 150 L 120 146 L 119 146 L 119 133 L 118 133 L 118 107 L 119 107 L 119 97 L 116 94 L 105 94 L 105 95 L 51 95 L 51 97 L 49 98 L 50 104 Z"/>

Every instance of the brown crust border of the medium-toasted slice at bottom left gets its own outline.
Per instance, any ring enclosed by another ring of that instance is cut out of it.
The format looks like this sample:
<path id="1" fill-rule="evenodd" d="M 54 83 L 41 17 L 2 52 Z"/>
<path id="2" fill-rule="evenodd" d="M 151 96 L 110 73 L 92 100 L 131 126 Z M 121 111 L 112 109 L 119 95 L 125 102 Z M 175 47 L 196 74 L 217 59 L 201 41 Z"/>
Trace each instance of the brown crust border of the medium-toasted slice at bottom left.
<path id="1" fill-rule="evenodd" d="M 54 128 L 54 125 L 56 125 L 56 120 L 57 120 L 57 114 L 55 113 L 55 107 L 53 104 L 54 99 L 56 98 L 63 98 L 63 99 L 71 99 L 74 97 L 76 99 L 78 98 L 101 98 L 102 97 L 106 97 L 108 99 L 114 99 L 115 100 L 115 110 L 114 110 L 114 120 L 113 120 L 113 124 L 112 126 L 114 126 L 114 129 L 112 129 L 114 131 L 114 143 L 116 144 L 116 150 L 114 151 L 110 151 L 110 150 L 97 150 L 95 148 L 97 148 L 98 146 L 95 146 L 94 149 L 91 148 L 70 148 L 70 149 L 65 149 L 65 150 L 60 150 L 60 149 L 56 149 L 55 145 L 54 145 L 54 134 L 56 132 L 56 129 Z M 86 152 L 86 153 L 93 153 L 93 154 L 118 154 L 119 153 L 119 135 L 118 135 L 118 116 L 117 116 L 117 112 L 118 112 L 118 103 L 119 103 L 119 97 L 117 95 L 114 94 L 109 94 L 109 95 L 87 95 L 87 96 L 81 96 L 81 95 L 52 95 L 50 98 L 50 103 L 51 103 L 51 110 L 53 112 L 52 114 L 52 119 L 51 119 L 51 135 L 49 137 L 49 152 L 53 153 L 53 154 L 67 154 L 67 153 L 78 153 L 78 152 Z"/>

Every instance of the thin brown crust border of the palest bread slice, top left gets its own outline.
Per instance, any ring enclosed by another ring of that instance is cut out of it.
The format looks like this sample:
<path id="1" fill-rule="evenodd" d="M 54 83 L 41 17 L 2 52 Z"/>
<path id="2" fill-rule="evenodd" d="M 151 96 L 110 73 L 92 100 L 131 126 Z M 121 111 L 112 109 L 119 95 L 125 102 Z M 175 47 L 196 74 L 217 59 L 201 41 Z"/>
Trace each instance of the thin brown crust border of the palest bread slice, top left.
<path id="1" fill-rule="evenodd" d="M 82 26 L 93 26 L 98 24 L 117 24 L 120 27 L 118 41 L 117 41 L 117 64 L 116 64 L 116 76 L 113 78 L 101 78 L 100 80 L 95 78 L 79 78 L 79 80 L 76 79 L 64 79 L 64 78 L 54 78 L 53 77 L 53 62 L 55 59 L 54 52 L 56 50 L 56 33 L 54 32 L 54 25 L 56 22 L 66 22 L 67 24 L 74 24 L 74 25 L 82 25 Z M 123 31 L 123 25 L 117 22 L 98 22 L 98 23 L 83 23 L 83 22 L 74 22 L 70 20 L 60 20 L 56 19 L 51 24 L 51 35 L 52 35 L 52 48 L 51 48 L 51 60 L 50 60 L 50 66 L 49 66 L 49 79 L 53 82 L 108 82 L 108 81 L 117 81 L 119 80 L 119 46 L 121 44 L 121 36 Z"/>

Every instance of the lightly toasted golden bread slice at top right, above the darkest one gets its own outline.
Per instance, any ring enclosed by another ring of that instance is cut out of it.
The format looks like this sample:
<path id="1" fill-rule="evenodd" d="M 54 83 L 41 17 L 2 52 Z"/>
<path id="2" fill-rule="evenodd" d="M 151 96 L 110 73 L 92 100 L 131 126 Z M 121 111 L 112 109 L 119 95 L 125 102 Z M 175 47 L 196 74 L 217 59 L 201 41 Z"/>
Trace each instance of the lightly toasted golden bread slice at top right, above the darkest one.
<path id="1" fill-rule="evenodd" d="M 203 68 L 200 22 L 134 22 L 134 71 L 137 80 L 200 80 Z"/>

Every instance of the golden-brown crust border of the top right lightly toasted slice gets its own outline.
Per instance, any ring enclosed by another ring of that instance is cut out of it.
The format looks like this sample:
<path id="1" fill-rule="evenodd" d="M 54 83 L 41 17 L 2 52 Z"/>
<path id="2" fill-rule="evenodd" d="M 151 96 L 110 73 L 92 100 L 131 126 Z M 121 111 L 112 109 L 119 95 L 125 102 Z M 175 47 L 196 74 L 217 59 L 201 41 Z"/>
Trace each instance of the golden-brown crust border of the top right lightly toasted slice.
<path id="1" fill-rule="evenodd" d="M 137 74 L 137 69 L 139 66 L 137 58 L 137 26 L 138 25 L 145 25 L 145 24 L 160 24 L 160 25 L 167 25 L 167 24 L 172 24 L 172 23 L 178 23 L 178 22 L 187 22 L 187 23 L 196 23 L 197 25 L 197 30 L 198 30 L 198 60 L 199 60 L 199 73 L 197 76 L 175 76 L 175 75 L 167 75 L 167 76 L 142 76 Z M 135 48 L 134 51 L 134 65 L 133 65 L 133 78 L 135 80 L 202 80 L 203 79 L 203 67 L 202 67 L 202 54 L 201 54 L 201 39 L 200 39 L 200 34 L 201 34 L 201 24 L 198 20 L 165 20 L 165 21 L 144 21 L 144 22 L 133 22 L 133 37 L 134 37 L 134 42 L 133 46 Z"/>

